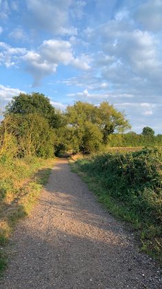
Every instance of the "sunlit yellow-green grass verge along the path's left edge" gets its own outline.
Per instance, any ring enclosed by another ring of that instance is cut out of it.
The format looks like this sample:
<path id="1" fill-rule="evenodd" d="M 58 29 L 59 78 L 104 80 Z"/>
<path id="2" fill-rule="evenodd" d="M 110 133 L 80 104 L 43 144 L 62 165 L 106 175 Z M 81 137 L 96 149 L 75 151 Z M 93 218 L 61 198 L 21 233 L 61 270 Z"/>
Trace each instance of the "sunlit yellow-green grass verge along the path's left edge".
<path id="1" fill-rule="evenodd" d="M 30 214 L 52 166 L 54 159 L 36 157 L 0 161 L 0 274 L 7 266 L 4 246 L 17 221 Z"/>

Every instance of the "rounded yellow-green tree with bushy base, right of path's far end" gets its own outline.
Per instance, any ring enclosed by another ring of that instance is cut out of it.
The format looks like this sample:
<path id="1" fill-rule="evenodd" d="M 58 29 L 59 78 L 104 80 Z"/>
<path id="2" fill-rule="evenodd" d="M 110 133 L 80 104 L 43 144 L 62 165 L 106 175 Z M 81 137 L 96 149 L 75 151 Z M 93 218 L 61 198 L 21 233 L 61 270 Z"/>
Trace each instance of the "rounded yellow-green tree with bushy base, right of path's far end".
<path id="1" fill-rule="evenodd" d="M 108 135 L 115 131 L 124 131 L 130 128 L 122 112 L 118 112 L 102 102 L 100 106 L 78 101 L 68 106 L 65 112 L 68 131 L 64 143 L 69 143 L 73 152 L 91 153 L 100 150 L 103 143 L 107 143 Z"/>

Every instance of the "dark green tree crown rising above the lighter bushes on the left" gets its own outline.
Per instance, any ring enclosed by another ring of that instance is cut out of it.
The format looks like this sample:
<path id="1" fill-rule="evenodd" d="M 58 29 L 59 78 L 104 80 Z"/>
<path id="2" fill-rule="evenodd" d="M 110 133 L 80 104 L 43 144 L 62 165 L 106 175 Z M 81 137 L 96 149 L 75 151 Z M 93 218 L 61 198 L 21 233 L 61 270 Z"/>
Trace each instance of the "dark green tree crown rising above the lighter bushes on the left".
<path id="1" fill-rule="evenodd" d="M 62 114 L 56 112 L 49 99 L 42 93 L 20 93 L 18 96 L 13 97 L 5 109 L 5 116 L 10 114 L 24 115 L 31 113 L 37 113 L 45 117 L 52 128 L 58 128 L 62 125 Z"/>

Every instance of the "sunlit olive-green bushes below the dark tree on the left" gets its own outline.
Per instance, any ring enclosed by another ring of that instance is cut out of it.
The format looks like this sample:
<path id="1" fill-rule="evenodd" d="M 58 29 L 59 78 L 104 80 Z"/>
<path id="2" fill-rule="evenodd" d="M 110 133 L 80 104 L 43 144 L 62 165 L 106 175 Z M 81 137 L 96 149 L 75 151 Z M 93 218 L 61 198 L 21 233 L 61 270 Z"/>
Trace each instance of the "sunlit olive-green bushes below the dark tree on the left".
<path id="1" fill-rule="evenodd" d="M 16 139 L 19 157 L 36 155 L 52 157 L 54 155 L 54 130 L 47 119 L 36 112 L 33 114 L 10 114 L 1 125 L 1 133 L 12 134 Z"/>

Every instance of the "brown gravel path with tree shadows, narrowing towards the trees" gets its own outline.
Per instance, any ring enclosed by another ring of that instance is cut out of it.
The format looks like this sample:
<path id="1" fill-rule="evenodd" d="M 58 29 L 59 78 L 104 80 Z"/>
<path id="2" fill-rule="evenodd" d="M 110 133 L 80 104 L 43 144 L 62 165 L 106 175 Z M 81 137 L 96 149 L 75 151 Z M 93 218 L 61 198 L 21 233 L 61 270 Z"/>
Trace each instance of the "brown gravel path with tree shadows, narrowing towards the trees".
<path id="1" fill-rule="evenodd" d="M 2 289 L 162 288 L 158 268 L 60 159 L 17 226 Z"/>

